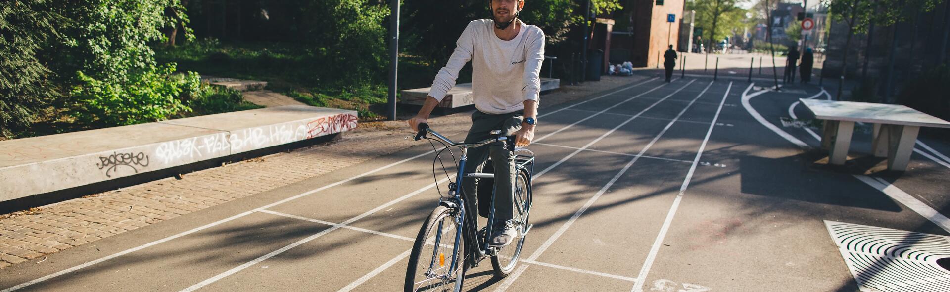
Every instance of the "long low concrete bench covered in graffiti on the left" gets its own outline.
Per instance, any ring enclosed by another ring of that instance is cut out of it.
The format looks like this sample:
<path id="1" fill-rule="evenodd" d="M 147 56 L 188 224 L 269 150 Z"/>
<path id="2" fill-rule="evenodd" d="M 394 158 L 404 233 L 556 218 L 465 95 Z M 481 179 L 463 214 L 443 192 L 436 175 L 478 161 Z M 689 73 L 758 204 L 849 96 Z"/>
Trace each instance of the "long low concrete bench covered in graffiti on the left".
<path id="1" fill-rule="evenodd" d="M 0 141 L 0 202 L 355 128 L 356 111 L 268 107 Z"/>

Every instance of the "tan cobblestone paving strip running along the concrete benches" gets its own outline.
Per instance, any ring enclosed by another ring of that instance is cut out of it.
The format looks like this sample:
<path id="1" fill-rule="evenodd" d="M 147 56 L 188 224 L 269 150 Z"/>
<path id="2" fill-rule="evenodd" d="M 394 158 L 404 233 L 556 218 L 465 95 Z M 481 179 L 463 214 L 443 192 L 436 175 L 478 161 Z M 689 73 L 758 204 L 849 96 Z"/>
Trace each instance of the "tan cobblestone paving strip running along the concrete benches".
<path id="1" fill-rule="evenodd" d="M 599 82 L 581 86 L 562 85 L 542 95 L 542 112 L 543 107 L 645 78 L 603 76 Z M 459 133 L 467 129 L 469 113 L 437 117 L 431 122 L 446 133 Z M 392 139 L 411 134 L 403 123 L 363 123 L 339 141 L 0 215 L 0 268 L 416 146 L 409 139 Z"/>

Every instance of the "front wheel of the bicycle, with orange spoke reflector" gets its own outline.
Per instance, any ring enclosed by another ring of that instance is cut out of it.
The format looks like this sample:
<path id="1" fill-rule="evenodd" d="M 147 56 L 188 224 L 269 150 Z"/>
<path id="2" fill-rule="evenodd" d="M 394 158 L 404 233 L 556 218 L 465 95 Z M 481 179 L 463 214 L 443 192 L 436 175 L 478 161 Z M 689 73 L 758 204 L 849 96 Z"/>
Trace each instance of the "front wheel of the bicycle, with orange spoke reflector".
<path id="1" fill-rule="evenodd" d="M 453 213 L 440 205 L 422 225 L 409 255 L 405 291 L 453 291 L 465 277 L 465 244 L 455 244 L 459 229 Z"/>

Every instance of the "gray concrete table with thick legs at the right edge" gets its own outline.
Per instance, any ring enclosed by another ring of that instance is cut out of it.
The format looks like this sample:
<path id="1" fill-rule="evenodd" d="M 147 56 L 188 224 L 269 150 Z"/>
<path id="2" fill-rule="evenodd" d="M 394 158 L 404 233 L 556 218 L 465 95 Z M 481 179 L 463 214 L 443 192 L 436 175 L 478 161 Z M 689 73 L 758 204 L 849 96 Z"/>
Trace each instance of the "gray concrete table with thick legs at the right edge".
<path id="1" fill-rule="evenodd" d="M 903 171 L 910 163 L 921 127 L 950 127 L 950 122 L 898 105 L 834 102 L 799 99 L 825 120 L 822 146 L 829 149 L 829 163 L 844 165 L 851 143 L 854 123 L 874 124 L 871 151 L 875 157 L 887 157 L 887 168 Z"/>

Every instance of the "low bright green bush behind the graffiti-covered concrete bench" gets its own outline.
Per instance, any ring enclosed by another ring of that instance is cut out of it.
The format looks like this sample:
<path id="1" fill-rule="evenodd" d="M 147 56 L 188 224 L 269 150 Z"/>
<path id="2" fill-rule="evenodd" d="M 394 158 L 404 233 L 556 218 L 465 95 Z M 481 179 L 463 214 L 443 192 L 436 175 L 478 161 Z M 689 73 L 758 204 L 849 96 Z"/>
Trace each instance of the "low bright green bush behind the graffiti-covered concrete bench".
<path id="1" fill-rule="evenodd" d="M 79 73 L 84 84 L 70 92 L 76 100 L 71 112 L 86 125 L 134 125 L 168 119 L 191 111 L 180 95 L 199 92 L 199 75 L 175 75 L 175 65 L 148 67 L 126 75 L 123 82 L 110 82 Z"/>

